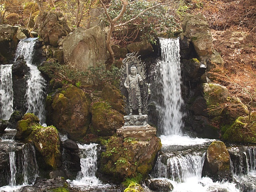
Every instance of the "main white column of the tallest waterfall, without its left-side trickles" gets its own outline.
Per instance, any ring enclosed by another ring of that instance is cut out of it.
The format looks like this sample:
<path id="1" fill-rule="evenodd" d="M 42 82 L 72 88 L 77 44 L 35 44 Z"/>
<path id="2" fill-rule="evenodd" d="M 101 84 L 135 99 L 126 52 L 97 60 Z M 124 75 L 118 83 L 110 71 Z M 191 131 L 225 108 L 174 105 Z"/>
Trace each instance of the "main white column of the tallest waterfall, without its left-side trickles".
<path id="1" fill-rule="evenodd" d="M 180 76 L 180 55 L 179 39 L 160 38 L 161 48 L 161 77 L 163 96 L 163 135 L 181 134 L 183 126 L 181 106 L 181 76 Z"/>

